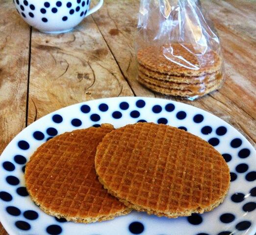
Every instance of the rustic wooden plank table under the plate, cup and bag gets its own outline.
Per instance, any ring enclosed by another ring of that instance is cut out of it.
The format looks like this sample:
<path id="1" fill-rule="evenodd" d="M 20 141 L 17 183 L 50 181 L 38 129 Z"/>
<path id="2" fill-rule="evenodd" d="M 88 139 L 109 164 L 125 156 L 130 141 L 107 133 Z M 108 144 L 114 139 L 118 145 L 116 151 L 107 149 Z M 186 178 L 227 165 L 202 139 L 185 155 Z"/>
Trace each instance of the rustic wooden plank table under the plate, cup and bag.
<path id="1" fill-rule="evenodd" d="M 203 0 L 221 37 L 227 79 L 196 101 L 256 142 L 256 1 Z M 102 97 L 155 94 L 136 81 L 133 35 L 139 0 L 105 0 L 73 32 L 29 27 L 11 0 L 0 0 L 0 153 L 36 119 Z M 0 226 L 0 235 L 6 235 Z"/>

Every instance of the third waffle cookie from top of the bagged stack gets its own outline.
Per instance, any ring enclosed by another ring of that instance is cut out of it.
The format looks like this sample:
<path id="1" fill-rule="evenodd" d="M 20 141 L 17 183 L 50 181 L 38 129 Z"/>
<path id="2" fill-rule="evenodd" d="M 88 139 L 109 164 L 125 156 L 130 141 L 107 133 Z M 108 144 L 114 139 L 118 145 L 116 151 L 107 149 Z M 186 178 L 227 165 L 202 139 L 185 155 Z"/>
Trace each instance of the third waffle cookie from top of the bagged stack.
<path id="1" fill-rule="evenodd" d="M 161 81 L 161 80 L 149 77 L 140 71 L 138 71 L 138 76 L 140 78 L 142 78 L 143 80 L 145 80 L 146 82 L 151 83 L 156 86 L 159 86 L 159 87 L 171 88 L 171 89 L 177 89 L 177 90 L 191 90 L 194 92 L 199 92 L 200 90 L 202 90 L 202 88 L 212 87 L 216 83 L 219 83 L 219 81 L 216 79 L 208 81 L 207 83 L 196 83 L 196 84 Z"/>

